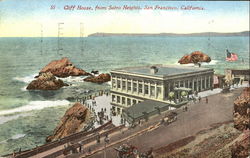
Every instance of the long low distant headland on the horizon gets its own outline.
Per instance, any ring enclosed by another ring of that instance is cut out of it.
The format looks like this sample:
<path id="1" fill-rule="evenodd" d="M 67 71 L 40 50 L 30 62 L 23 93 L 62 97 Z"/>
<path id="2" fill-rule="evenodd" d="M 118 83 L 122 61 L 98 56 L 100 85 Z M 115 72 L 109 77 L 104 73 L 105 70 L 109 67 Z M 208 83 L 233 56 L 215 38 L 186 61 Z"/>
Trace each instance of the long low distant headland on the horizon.
<path id="1" fill-rule="evenodd" d="M 168 36 L 168 37 L 203 37 L 203 36 L 249 36 L 249 31 L 242 32 L 229 32 L 229 33 L 219 33 L 219 32 L 202 32 L 202 33 L 188 33 L 188 34 L 178 34 L 178 33 L 102 33 L 97 32 L 88 35 L 88 37 L 109 37 L 109 36 Z"/>

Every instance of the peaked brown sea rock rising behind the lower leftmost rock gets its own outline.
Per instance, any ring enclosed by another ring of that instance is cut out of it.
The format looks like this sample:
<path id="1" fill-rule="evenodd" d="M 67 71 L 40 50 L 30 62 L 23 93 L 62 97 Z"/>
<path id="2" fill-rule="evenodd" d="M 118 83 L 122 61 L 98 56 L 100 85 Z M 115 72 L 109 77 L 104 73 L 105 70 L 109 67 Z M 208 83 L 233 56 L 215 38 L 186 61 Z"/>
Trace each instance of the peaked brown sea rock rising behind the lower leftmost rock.
<path id="1" fill-rule="evenodd" d="M 76 68 L 68 58 L 62 58 L 61 60 L 53 60 L 46 65 L 40 73 L 51 72 L 57 77 L 69 77 L 69 76 L 83 76 L 89 75 L 86 71 Z"/>

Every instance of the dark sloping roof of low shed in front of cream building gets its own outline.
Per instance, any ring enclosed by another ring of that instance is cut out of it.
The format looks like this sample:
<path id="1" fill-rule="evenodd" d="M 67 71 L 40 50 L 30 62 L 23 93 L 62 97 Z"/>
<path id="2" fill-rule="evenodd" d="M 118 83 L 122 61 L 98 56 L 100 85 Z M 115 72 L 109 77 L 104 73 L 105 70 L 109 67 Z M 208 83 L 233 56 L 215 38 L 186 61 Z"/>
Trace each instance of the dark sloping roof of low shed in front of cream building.
<path id="1" fill-rule="evenodd" d="M 131 107 L 125 108 L 124 112 L 132 118 L 138 118 L 143 116 L 145 112 L 150 113 L 157 110 L 157 108 L 163 108 L 165 106 L 169 106 L 169 104 L 153 100 L 145 100 Z"/>

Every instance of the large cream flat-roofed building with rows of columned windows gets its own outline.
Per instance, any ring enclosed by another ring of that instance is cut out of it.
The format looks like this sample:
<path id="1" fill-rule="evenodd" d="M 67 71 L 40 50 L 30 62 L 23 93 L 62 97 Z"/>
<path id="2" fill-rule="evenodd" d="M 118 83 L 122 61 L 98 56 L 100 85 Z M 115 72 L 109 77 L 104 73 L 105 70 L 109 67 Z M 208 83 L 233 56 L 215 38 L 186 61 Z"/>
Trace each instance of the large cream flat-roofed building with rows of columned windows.
<path id="1" fill-rule="evenodd" d="M 169 92 L 189 88 L 201 92 L 213 88 L 213 69 L 187 66 L 143 66 L 111 71 L 113 108 L 121 109 L 154 100 L 169 103 Z"/>

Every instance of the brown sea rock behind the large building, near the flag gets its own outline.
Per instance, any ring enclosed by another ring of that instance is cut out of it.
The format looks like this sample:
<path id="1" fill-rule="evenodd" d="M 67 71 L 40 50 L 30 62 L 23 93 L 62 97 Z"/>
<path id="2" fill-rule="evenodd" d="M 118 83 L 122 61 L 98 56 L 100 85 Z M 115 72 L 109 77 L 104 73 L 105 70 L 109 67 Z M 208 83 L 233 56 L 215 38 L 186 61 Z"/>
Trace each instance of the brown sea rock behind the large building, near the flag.
<path id="1" fill-rule="evenodd" d="M 189 63 L 200 63 L 200 62 L 210 62 L 211 58 L 204 54 L 201 51 L 195 51 L 192 52 L 191 54 L 188 55 L 184 55 L 179 61 L 178 63 L 180 64 L 189 64 Z"/>

